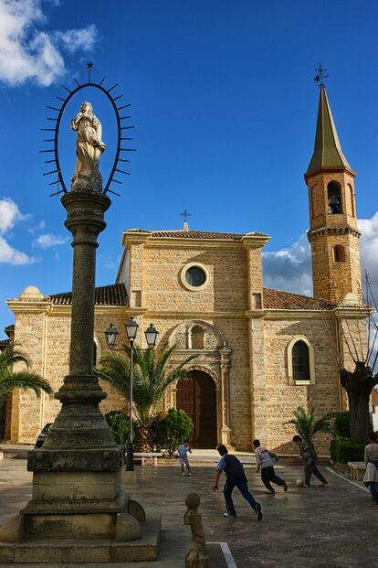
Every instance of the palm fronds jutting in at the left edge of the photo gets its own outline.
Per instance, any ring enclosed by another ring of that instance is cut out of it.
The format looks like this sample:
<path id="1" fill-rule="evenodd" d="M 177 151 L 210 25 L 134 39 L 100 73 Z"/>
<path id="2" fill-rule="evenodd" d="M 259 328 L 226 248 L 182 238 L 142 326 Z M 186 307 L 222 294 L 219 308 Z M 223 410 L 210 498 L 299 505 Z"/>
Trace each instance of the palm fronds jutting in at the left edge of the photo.
<path id="1" fill-rule="evenodd" d="M 13 365 L 23 362 L 26 370 L 13 371 Z M 47 380 L 43 379 L 38 373 L 28 370 L 30 359 L 26 353 L 21 351 L 16 343 L 10 343 L 0 353 L 0 396 L 8 394 L 15 389 L 27 391 L 31 389 L 40 396 L 41 391 L 52 394 L 53 390 Z"/>

